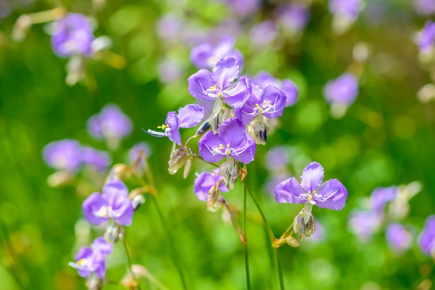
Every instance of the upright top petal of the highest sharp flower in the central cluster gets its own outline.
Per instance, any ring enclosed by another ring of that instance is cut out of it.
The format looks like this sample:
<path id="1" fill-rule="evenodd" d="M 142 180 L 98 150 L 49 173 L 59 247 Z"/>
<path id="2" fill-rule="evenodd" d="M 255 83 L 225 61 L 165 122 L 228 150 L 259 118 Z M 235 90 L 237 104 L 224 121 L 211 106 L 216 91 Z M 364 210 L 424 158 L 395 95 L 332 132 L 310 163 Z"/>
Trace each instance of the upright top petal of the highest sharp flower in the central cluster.
<path id="1" fill-rule="evenodd" d="M 239 75 L 240 70 L 236 59 L 229 56 L 221 58 L 213 69 L 214 83 L 222 89 L 227 89 Z"/>

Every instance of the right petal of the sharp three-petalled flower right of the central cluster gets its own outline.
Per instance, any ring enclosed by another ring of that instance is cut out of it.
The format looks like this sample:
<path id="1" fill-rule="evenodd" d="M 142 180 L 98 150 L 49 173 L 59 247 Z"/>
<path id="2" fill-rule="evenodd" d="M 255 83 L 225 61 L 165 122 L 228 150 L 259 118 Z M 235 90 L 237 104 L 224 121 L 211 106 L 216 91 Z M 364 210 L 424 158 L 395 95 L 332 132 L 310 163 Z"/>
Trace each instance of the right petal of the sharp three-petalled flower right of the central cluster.
<path id="1" fill-rule="evenodd" d="M 320 198 L 321 196 L 321 198 Z M 313 196 L 315 205 L 329 210 L 341 210 L 346 204 L 347 189 L 336 179 L 330 179 Z"/>

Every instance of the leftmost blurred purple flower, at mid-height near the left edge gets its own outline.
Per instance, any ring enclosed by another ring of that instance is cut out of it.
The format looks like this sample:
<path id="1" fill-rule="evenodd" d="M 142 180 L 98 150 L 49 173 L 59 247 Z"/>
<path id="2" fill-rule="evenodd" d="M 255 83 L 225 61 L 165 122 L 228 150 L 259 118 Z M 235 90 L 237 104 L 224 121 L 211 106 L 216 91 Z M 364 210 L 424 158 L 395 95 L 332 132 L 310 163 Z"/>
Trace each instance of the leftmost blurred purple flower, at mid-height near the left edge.
<path id="1" fill-rule="evenodd" d="M 63 139 L 51 142 L 44 146 L 44 161 L 57 170 L 77 171 L 82 160 L 82 148 L 79 142 L 72 139 Z"/>

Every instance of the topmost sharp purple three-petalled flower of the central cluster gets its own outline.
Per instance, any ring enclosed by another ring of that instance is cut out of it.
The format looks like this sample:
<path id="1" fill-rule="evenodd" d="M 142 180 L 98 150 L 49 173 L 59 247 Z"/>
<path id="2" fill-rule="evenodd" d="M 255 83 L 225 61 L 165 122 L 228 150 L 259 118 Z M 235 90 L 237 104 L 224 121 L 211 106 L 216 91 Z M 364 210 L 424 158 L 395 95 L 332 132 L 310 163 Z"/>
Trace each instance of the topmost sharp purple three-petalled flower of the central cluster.
<path id="1" fill-rule="evenodd" d="M 249 98 L 250 87 L 245 76 L 240 76 L 240 69 L 235 58 L 226 56 L 215 65 L 213 72 L 200 69 L 188 78 L 190 94 L 200 101 L 222 99 L 233 108 L 240 108 Z"/>

